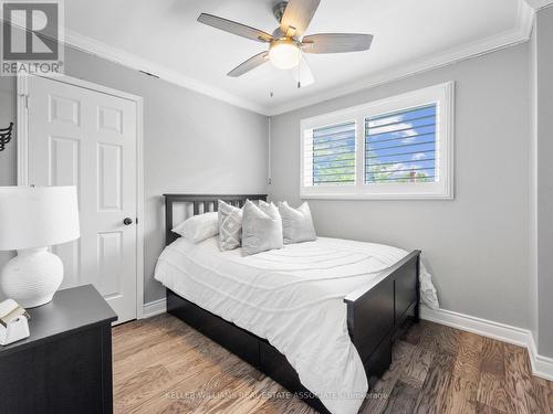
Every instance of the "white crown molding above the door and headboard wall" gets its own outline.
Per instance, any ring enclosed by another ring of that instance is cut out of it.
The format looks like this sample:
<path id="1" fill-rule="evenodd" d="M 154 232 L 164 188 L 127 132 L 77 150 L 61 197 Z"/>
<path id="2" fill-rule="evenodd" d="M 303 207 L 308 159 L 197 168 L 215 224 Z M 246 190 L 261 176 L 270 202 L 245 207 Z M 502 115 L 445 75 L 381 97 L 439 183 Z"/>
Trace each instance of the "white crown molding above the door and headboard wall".
<path id="1" fill-rule="evenodd" d="M 182 75 L 181 73 L 178 73 L 176 71 L 168 70 L 157 63 L 142 59 L 133 53 L 128 53 L 121 49 L 109 46 L 73 30 L 66 29 L 64 32 L 64 43 L 74 49 L 96 55 L 111 62 L 118 63 L 123 66 L 152 73 L 158 76 L 160 79 L 226 102 L 230 105 L 252 110 L 261 115 L 268 115 L 268 110 L 265 107 L 252 104 L 248 99 L 243 99 L 237 95 L 210 86 L 207 83 Z"/>

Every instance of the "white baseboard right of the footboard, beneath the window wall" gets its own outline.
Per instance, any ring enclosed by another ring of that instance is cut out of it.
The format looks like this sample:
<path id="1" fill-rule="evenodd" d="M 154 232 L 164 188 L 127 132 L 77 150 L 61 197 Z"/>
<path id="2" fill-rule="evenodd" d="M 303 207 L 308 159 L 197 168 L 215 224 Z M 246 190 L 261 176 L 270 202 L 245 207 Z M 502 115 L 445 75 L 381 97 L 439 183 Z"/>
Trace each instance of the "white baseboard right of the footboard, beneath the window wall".
<path id="1" fill-rule="evenodd" d="M 535 346 L 534 337 L 529 329 L 517 328 L 505 323 L 493 322 L 470 315 L 453 312 L 446 309 L 432 310 L 425 306 L 420 308 L 420 318 L 446 325 L 451 328 L 465 330 L 512 343 L 528 349 L 532 373 L 535 376 L 553 381 L 553 358 L 540 355 Z"/>

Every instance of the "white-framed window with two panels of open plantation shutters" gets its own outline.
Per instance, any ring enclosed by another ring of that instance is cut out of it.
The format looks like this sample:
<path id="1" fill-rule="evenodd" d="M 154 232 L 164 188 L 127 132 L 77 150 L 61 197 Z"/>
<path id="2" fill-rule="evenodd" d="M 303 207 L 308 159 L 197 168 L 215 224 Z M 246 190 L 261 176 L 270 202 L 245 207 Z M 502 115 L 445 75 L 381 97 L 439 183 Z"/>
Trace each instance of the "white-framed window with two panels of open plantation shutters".
<path id="1" fill-rule="evenodd" d="M 301 197 L 451 199 L 453 83 L 303 119 Z"/>

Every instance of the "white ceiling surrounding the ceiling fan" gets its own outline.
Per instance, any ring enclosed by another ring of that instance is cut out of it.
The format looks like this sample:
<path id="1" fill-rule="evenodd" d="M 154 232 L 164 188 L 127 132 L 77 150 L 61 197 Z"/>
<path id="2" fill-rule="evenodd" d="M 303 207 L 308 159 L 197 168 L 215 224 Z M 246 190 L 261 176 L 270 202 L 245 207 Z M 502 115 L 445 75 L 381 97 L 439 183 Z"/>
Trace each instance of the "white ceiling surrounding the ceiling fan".
<path id="1" fill-rule="evenodd" d="M 198 14 L 272 32 L 276 1 L 71 0 L 65 25 L 69 43 L 264 114 L 514 43 L 529 31 L 522 0 L 322 0 L 306 34 L 372 33 L 368 52 L 306 55 L 315 83 L 302 89 L 270 63 L 226 76 L 267 45 L 200 24 Z"/>

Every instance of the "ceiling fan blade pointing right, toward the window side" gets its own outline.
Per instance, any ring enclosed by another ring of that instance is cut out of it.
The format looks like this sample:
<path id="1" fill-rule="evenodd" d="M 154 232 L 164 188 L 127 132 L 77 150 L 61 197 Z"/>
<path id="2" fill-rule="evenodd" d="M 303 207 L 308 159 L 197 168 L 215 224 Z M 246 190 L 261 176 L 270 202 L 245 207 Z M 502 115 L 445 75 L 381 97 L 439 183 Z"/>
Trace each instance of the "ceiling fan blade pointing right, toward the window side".
<path id="1" fill-rule="evenodd" d="M 373 43 L 372 34 L 321 33 L 303 38 L 305 53 L 346 53 L 366 51 Z"/>

